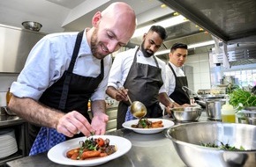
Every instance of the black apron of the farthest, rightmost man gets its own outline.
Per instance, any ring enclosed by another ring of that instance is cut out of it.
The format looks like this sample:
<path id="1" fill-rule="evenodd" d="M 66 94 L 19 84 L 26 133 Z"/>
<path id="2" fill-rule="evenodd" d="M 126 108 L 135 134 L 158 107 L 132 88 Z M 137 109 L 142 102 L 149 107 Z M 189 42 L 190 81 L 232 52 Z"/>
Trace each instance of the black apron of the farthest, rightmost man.
<path id="1" fill-rule="evenodd" d="M 182 89 L 183 86 L 188 86 L 186 76 L 177 76 L 170 64 L 169 68 L 172 70 L 176 81 L 175 89 L 169 95 L 169 98 L 173 99 L 178 105 L 190 104 L 188 92 Z"/>

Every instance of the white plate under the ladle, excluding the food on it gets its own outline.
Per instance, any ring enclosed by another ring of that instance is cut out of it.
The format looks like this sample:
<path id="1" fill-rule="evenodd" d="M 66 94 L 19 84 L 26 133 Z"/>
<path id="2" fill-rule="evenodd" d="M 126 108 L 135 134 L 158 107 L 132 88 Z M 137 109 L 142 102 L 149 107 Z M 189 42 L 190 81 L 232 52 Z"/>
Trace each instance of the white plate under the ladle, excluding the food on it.
<path id="1" fill-rule="evenodd" d="M 147 119 L 147 120 L 150 120 L 153 122 L 162 120 L 163 127 L 159 127 L 159 128 L 134 128 L 134 127 L 132 127 L 132 125 L 138 124 L 139 120 L 126 121 L 123 123 L 123 127 L 131 129 L 134 132 L 139 133 L 139 134 L 156 134 L 156 133 L 162 132 L 166 128 L 174 126 L 174 122 L 171 120 L 164 120 L 164 119 Z"/>

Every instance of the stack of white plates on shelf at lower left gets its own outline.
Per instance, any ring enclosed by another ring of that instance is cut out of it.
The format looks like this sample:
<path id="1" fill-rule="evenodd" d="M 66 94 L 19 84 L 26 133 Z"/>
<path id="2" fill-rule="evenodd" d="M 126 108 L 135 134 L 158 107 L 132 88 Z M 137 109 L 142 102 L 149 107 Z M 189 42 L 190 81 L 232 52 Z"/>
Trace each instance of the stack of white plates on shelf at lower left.
<path id="1" fill-rule="evenodd" d="M 4 129 L 0 131 L 0 148 L 0 158 L 11 156 L 18 151 L 13 129 Z"/>

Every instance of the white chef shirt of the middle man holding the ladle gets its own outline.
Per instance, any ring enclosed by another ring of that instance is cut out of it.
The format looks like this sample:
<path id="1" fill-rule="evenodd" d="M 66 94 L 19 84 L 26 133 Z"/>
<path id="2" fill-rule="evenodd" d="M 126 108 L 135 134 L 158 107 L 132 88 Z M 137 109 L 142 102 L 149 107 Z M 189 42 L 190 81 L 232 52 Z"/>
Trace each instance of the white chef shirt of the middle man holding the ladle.
<path id="1" fill-rule="evenodd" d="M 128 76 L 128 73 L 131 69 L 132 62 L 134 59 L 134 54 L 135 54 L 137 48 L 138 47 L 135 47 L 135 48 L 129 49 L 127 51 L 118 53 L 116 55 L 115 60 L 110 69 L 108 86 L 113 86 L 113 87 L 117 88 L 117 81 L 121 82 L 121 84 L 124 85 L 126 77 Z M 145 57 L 140 50 L 138 50 L 136 56 L 137 56 L 137 62 L 142 63 L 142 64 L 149 64 L 151 66 L 156 67 L 153 56 Z M 162 69 L 161 75 L 162 75 L 163 84 L 159 90 L 159 93 L 162 93 L 162 92 L 166 92 L 165 84 L 164 84 L 166 63 L 157 57 L 156 57 L 156 60 L 159 64 L 159 68 Z"/>

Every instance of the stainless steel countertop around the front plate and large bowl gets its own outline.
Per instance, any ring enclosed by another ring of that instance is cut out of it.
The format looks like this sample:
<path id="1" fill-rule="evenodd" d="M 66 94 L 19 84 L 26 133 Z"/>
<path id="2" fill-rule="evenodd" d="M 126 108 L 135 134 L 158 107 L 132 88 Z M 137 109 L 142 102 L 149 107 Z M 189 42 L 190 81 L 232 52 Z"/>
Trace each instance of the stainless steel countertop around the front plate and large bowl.
<path id="1" fill-rule="evenodd" d="M 205 113 L 202 113 L 200 121 L 206 121 Z M 180 124 L 180 123 L 177 123 Z M 109 132 L 110 135 L 122 136 L 132 142 L 132 149 L 115 160 L 103 163 L 100 166 L 162 166 L 162 167 L 184 167 L 186 166 L 177 155 L 172 142 L 165 136 L 166 130 L 158 134 L 137 134 L 129 129 L 119 129 Z M 26 156 L 7 163 L 10 167 L 49 167 L 49 166 L 64 166 L 51 162 L 47 153 L 42 153 L 36 156 Z"/>

